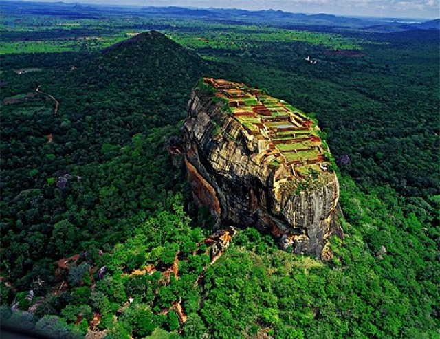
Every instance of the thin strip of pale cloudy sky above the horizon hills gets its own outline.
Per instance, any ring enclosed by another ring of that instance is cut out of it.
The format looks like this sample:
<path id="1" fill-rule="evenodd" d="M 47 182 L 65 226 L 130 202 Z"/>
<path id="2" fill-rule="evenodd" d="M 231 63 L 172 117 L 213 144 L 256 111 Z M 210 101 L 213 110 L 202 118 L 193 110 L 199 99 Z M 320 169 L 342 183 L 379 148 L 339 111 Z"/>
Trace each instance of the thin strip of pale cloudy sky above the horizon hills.
<path id="1" fill-rule="evenodd" d="M 59 0 L 28 0 L 54 2 Z M 61 0 L 106 5 L 186 6 L 284 10 L 294 13 L 327 13 L 364 17 L 437 19 L 440 0 Z"/>

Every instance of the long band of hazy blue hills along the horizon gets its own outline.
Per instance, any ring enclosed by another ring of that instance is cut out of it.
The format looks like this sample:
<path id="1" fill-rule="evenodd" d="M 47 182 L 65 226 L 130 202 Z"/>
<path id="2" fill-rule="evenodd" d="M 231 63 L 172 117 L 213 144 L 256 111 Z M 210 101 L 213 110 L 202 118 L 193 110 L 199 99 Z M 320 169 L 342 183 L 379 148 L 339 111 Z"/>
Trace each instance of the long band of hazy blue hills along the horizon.
<path id="1" fill-rule="evenodd" d="M 228 21 L 234 23 L 262 23 L 269 25 L 300 25 L 311 27 L 345 28 L 373 32 L 396 32 L 399 30 L 439 29 L 439 20 L 426 23 L 406 24 L 386 18 L 353 18 L 333 14 L 304 14 L 282 10 L 241 10 L 229 8 L 186 8 L 140 7 L 140 6 L 98 6 L 74 3 L 36 3 L 24 1 L 1 1 L 0 8 L 7 13 L 50 14 L 74 18 L 104 17 L 108 14 L 132 14 L 145 17 L 195 18 L 206 21 Z M 418 27 L 417 27 L 418 26 Z M 293 28 L 293 27 L 292 27 Z"/>

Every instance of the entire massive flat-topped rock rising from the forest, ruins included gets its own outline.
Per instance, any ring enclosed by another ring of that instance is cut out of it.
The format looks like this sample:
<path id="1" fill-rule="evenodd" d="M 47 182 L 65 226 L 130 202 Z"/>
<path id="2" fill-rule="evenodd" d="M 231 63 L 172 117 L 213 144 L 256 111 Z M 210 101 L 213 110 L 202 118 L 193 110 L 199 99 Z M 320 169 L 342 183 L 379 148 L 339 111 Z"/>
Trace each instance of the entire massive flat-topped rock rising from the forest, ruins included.
<path id="1" fill-rule="evenodd" d="M 331 255 L 328 237 L 342 237 L 339 185 L 316 124 L 257 89 L 210 78 L 193 89 L 188 111 L 188 179 L 217 227 L 252 226 L 298 254 Z"/>

